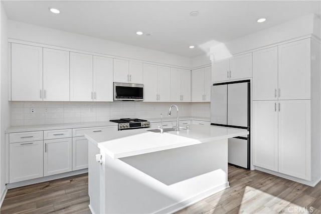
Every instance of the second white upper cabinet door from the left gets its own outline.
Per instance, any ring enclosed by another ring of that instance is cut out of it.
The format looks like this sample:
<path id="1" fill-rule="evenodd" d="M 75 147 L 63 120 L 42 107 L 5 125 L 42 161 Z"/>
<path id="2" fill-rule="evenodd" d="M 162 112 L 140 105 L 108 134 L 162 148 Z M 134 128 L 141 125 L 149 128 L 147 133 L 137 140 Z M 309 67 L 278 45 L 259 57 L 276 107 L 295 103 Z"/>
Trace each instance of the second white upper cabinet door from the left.
<path id="1" fill-rule="evenodd" d="M 44 48 L 44 100 L 69 101 L 69 51 Z"/>

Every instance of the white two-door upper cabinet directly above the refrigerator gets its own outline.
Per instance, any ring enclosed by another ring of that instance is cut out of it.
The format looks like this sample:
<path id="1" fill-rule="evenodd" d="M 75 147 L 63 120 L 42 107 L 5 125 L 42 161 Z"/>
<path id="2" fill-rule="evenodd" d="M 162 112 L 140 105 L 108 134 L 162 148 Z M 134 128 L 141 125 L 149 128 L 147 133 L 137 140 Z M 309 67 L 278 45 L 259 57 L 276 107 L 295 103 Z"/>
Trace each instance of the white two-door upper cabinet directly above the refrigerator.
<path id="1" fill-rule="evenodd" d="M 252 77 L 252 53 L 212 63 L 212 82 Z"/>

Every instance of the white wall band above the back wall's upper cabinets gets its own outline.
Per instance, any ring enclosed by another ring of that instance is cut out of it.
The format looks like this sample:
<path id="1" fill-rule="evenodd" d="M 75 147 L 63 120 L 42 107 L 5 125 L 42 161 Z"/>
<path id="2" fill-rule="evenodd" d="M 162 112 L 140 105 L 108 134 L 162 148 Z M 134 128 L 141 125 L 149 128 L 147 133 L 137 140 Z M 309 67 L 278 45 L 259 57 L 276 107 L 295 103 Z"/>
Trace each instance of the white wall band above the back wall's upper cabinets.
<path id="1" fill-rule="evenodd" d="M 81 51 L 89 51 L 130 59 L 157 62 L 166 65 L 191 67 L 191 59 L 165 52 L 137 46 L 102 40 L 80 34 L 40 27 L 9 20 L 8 36 L 10 39 L 53 45 Z"/>

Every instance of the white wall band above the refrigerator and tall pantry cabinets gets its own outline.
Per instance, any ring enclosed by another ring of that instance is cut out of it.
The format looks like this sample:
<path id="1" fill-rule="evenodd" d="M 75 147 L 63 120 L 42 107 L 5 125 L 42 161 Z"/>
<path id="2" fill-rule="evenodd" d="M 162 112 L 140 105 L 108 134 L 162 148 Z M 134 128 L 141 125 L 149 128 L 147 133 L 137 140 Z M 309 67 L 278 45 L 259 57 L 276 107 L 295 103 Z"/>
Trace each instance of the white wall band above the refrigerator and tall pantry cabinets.
<path id="1" fill-rule="evenodd" d="M 267 21 L 268 22 L 268 21 Z M 320 21 L 314 15 L 310 14 L 300 17 L 286 23 L 264 29 L 262 31 L 232 40 L 225 44 L 212 46 L 211 54 L 215 59 L 221 59 L 219 56 L 222 52 L 229 54 L 238 54 L 250 51 L 267 45 L 273 45 L 283 41 L 299 38 L 313 34 L 320 38 Z M 224 48 L 225 50 L 222 50 Z"/>

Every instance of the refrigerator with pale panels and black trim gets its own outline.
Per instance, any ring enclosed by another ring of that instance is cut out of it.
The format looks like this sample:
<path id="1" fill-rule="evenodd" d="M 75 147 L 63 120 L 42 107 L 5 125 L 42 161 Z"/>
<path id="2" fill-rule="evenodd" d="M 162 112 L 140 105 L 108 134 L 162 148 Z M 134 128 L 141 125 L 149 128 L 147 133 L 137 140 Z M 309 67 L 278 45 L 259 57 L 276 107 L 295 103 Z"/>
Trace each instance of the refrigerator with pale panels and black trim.
<path id="1" fill-rule="evenodd" d="M 213 84 L 211 125 L 250 132 L 250 80 Z M 228 162 L 250 168 L 250 135 L 229 139 Z"/>

